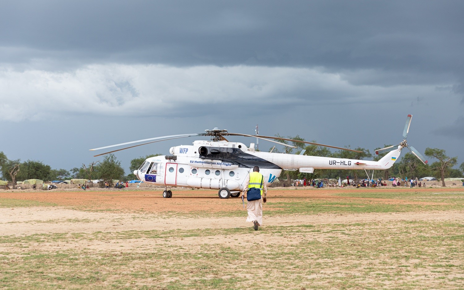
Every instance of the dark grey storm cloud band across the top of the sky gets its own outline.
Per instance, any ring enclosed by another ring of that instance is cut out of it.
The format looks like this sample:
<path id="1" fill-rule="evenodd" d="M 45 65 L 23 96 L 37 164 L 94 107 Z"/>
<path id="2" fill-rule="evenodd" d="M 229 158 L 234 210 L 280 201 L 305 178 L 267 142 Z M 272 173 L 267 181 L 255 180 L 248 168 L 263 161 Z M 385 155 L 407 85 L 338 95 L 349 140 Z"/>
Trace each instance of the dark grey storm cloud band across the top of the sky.
<path id="1" fill-rule="evenodd" d="M 2 3 L 0 46 L 4 62 L 84 57 L 457 73 L 463 8 L 462 1 L 11 1 Z"/>

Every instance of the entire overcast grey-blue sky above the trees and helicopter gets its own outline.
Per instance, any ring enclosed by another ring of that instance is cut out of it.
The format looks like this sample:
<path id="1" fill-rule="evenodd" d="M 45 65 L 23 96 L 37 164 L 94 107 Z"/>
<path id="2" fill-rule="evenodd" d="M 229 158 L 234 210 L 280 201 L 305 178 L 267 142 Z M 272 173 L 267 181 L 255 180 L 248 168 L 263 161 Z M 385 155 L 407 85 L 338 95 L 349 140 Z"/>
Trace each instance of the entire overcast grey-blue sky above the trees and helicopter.
<path id="1" fill-rule="evenodd" d="M 90 148 L 258 123 L 373 152 L 402 141 L 412 114 L 408 143 L 460 164 L 463 12 L 461 0 L 1 1 L 0 151 L 69 170 L 99 160 Z M 129 173 L 193 141 L 116 157 Z"/>

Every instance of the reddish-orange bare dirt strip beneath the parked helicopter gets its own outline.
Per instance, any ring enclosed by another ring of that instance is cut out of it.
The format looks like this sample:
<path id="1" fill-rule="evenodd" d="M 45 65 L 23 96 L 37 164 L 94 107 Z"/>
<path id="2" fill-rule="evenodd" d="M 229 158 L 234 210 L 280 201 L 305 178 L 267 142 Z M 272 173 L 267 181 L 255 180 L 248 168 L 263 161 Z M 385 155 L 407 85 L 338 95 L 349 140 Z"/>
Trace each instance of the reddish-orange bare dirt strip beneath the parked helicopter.
<path id="1" fill-rule="evenodd" d="M 0 198 L 12 198 L 21 200 L 35 200 L 41 202 L 55 203 L 58 206 L 91 208 L 92 210 L 121 210 L 123 212 L 144 211 L 148 213 L 176 212 L 188 213 L 192 211 L 206 211 L 209 213 L 240 210 L 242 200 L 230 198 L 219 200 L 216 190 L 191 190 L 174 188 L 173 197 L 164 199 L 161 190 L 137 191 L 121 189 L 97 189 L 80 190 L 75 189 L 53 189 L 53 190 L 5 190 L 0 192 Z M 385 189 L 384 189 L 385 190 Z M 387 189 L 387 192 L 392 189 Z M 338 196 L 337 193 L 376 193 L 382 192 L 382 188 L 351 189 L 351 188 L 329 188 L 316 189 L 301 187 L 296 188 L 272 188 L 268 192 L 269 200 L 279 202 L 291 202 L 294 198 L 303 199 L 328 199 L 328 200 L 370 200 L 372 203 L 387 204 L 439 204 L 428 201 L 405 201 L 394 199 L 354 198 Z M 400 188 L 395 192 L 401 193 L 460 193 L 462 188 Z M 214 200 L 214 202 L 212 202 Z"/>

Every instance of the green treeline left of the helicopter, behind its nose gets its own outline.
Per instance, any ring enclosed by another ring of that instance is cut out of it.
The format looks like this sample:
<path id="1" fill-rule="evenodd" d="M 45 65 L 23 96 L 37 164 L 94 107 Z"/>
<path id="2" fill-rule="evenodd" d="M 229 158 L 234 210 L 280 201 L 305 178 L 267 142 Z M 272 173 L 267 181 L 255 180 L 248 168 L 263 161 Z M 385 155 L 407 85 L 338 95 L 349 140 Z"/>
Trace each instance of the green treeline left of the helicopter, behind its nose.
<path id="1" fill-rule="evenodd" d="M 159 154 L 157 154 L 159 155 Z M 145 159 L 151 156 L 147 155 L 135 158 L 130 162 L 130 171 L 138 169 Z M 44 181 L 52 180 L 69 180 L 69 179 L 87 179 L 87 180 L 133 180 L 134 174 L 125 174 L 121 166 L 121 161 L 116 159 L 114 154 L 104 155 L 101 161 L 94 161 L 90 164 L 82 164 L 81 167 L 66 169 L 52 169 L 50 165 L 42 161 L 19 159 L 10 160 L 3 151 L 0 151 L 0 179 L 12 181 L 22 181 L 27 179 L 39 179 Z"/>

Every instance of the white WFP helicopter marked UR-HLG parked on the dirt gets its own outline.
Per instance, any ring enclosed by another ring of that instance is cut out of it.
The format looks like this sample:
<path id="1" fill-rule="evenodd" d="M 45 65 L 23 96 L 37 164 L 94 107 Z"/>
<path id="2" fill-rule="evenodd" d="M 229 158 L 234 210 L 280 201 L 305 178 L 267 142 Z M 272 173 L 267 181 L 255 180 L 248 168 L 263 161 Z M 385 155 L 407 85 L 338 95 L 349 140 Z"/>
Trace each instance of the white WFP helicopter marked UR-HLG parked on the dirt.
<path id="1" fill-rule="evenodd" d="M 134 174 L 139 180 L 143 182 L 165 186 L 165 190 L 163 191 L 164 198 L 172 197 L 172 191 L 168 190 L 168 188 L 193 187 L 219 189 L 219 198 L 228 199 L 229 197 L 240 196 L 240 192 L 243 192 L 244 190 L 244 183 L 247 175 L 256 165 L 259 166 L 260 173 L 264 175 L 264 181 L 266 182 L 266 185 L 268 185 L 280 176 L 282 170 L 299 170 L 303 173 L 313 173 L 314 169 L 388 169 L 393 166 L 393 163 L 400 156 L 401 149 L 405 147 L 409 148 L 412 153 L 420 159 L 420 161 L 426 164 L 427 161 L 424 159 L 424 157 L 415 148 L 409 146 L 406 142 L 411 120 L 412 115 L 408 115 L 405 129 L 403 131 L 404 139 L 402 142 L 400 142 L 400 144 L 375 151 L 376 154 L 383 154 L 388 152 L 388 154 L 382 157 L 379 161 L 255 151 L 254 143 L 251 143 L 250 147 L 246 147 L 244 143 L 229 142 L 224 136 L 254 137 L 293 148 L 295 147 L 288 144 L 272 141 L 270 139 L 294 141 L 361 152 L 349 148 L 341 148 L 282 137 L 229 133 L 227 130 L 221 130 L 218 128 L 205 130 L 206 133 L 161 136 L 94 148 L 90 150 L 98 150 L 115 146 L 128 145 L 132 143 L 145 142 L 142 144 L 121 148 L 94 156 L 97 157 L 100 155 L 105 155 L 154 142 L 193 136 L 210 136 L 211 141 L 197 140 L 193 142 L 193 145 L 180 145 L 171 147 L 169 150 L 171 155 L 150 157 L 143 162 L 138 170 L 134 171 Z"/>

